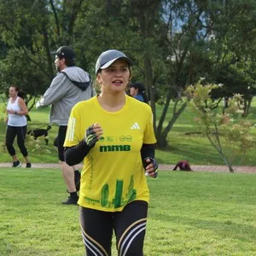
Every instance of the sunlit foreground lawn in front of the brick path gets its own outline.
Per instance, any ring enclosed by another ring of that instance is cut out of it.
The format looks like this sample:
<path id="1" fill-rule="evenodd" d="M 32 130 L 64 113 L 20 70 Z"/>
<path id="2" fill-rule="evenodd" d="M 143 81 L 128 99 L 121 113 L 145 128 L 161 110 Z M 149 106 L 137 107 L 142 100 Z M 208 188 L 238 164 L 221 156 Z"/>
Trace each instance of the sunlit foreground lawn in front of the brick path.
<path id="1" fill-rule="evenodd" d="M 256 255 L 255 183 L 241 173 L 148 177 L 144 255 Z M 57 170 L 1 168 L 0 255 L 83 255 L 79 207 L 61 205 L 65 190 Z"/>

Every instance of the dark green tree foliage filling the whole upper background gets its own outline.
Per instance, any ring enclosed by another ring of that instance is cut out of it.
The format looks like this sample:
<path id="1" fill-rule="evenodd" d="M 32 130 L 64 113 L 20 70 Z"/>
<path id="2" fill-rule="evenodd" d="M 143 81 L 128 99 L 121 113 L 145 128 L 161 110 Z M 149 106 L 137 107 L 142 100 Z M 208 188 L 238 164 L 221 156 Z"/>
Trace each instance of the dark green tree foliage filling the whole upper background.
<path id="1" fill-rule="evenodd" d="M 42 94 L 55 75 L 51 52 L 63 44 L 75 49 L 77 65 L 92 76 L 103 50 L 123 50 L 136 64 L 131 82 L 146 85 L 154 131 L 165 147 L 186 108 L 183 92 L 200 77 L 224 84 L 212 97 L 242 94 L 248 113 L 256 78 L 255 14 L 253 0 L 2 0 L 0 90 L 15 83 L 28 100 Z"/>

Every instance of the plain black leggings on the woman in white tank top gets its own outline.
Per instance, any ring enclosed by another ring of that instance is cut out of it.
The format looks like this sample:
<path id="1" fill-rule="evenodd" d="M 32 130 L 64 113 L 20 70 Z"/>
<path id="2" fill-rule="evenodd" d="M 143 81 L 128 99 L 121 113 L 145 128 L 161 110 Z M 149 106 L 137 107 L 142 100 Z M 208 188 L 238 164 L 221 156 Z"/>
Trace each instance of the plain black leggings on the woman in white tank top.
<path id="1" fill-rule="evenodd" d="M 10 126 L 10 125 L 7 126 L 5 145 L 11 156 L 16 154 L 15 148 L 13 146 L 16 136 L 17 136 L 17 143 L 20 148 L 20 152 L 24 157 L 26 157 L 27 156 L 27 150 L 25 147 L 26 125 L 17 126 L 17 127 Z"/>

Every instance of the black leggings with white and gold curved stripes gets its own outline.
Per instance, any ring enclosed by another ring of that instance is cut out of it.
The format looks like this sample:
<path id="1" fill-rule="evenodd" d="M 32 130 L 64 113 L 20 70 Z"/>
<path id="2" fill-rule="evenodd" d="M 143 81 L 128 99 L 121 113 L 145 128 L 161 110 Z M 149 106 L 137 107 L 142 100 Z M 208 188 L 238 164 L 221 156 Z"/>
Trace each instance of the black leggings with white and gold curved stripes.
<path id="1" fill-rule="evenodd" d="M 143 256 L 148 203 L 131 201 L 122 212 L 80 207 L 80 224 L 87 256 L 111 255 L 113 230 L 119 256 Z"/>

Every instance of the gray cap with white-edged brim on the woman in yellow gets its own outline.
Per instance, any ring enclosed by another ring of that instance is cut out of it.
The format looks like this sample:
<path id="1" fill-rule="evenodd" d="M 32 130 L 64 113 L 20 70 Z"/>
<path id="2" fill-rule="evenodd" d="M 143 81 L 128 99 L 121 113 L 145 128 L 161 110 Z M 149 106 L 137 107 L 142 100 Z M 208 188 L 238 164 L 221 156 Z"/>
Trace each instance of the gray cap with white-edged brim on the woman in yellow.
<path id="1" fill-rule="evenodd" d="M 125 54 L 117 49 L 108 49 L 98 57 L 96 61 L 96 74 L 99 72 L 100 69 L 105 69 L 109 67 L 114 61 L 123 59 L 125 60 L 129 66 L 133 65 L 131 59 L 129 59 Z"/>

